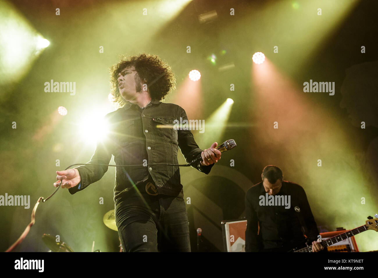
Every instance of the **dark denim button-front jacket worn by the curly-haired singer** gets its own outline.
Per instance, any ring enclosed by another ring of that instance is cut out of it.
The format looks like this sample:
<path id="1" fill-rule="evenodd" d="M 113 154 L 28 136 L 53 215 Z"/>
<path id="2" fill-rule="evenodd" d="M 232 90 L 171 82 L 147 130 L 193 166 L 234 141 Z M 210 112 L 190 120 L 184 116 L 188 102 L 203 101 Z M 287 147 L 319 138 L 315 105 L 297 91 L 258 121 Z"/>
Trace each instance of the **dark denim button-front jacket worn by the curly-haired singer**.
<path id="1" fill-rule="evenodd" d="M 174 120 L 181 122 L 180 117 L 182 121 L 187 120 L 184 109 L 176 104 L 153 100 L 142 110 L 138 105 L 128 102 L 105 116 L 110 134 L 102 143 L 98 142 L 88 163 L 109 164 L 113 154 L 116 165 L 178 164 L 178 148 L 189 163 L 203 150 L 198 148 L 190 130 L 173 129 Z M 212 166 L 214 164 L 198 164 L 195 168 L 208 174 Z M 69 189 L 71 194 L 97 182 L 108 170 L 108 166 L 82 165 L 76 168 L 81 182 Z M 143 182 L 150 175 L 159 194 L 183 196 L 178 166 L 116 167 L 115 202 L 132 187 L 127 174 L 135 184 Z"/>

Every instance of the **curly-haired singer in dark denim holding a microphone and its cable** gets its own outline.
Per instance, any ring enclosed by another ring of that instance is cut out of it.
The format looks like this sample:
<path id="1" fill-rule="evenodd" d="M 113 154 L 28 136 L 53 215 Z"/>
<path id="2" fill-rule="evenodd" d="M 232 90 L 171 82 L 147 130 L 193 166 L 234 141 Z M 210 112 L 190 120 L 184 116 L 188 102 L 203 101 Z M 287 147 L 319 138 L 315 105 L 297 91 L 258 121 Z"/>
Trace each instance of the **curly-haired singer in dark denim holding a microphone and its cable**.
<path id="1" fill-rule="evenodd" d="M 141 54 L 123 57 L 110 68 L 112 95 L 122 106 L 105 116 L 111 134 L 98 143 L 91 164 L 174 164 L 177 152 L 187 162 L 201 156 L 194 165 L 208 174 L 221 157 L 215 149 L 198 148 L 190 130 L 172 128 L 174 120 L 187 120 L 184 109 L 161 100 L 175 89 L 169 65 L 158 56 Z M 88 134 L 90 136 L 90 134 Z M 147 162 L 147 163 L 146 163 Z M 57 171 L 57 182 L 71 194 L 101 179 L 108 166 L 82 165 Z M 134 185 L 135 186 L 134 186 Z M 178 166 L 148 165 L 117 167 L 114 188 L 115 217 L 125 252 L 190 252 L 183 186 Z"/>

